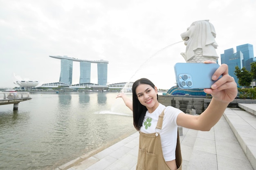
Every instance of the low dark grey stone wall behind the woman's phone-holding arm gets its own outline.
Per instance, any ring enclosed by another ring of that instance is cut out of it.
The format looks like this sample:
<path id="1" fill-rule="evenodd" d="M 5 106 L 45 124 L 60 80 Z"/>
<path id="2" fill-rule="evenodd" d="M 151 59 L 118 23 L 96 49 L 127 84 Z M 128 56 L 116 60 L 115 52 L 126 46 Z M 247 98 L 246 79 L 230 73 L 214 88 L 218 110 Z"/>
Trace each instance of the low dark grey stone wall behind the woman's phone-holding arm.
<path id="1" fill-rule="evenodd" d="M 173 106 L 179 108 L 184 113 L 189 113 L 191 108 L 196 110 L 197 114 L 201 114 L 211 102 L 211 97 L 191 97 L 191 96 L 171 96 L 159 95 L 158 101 L 164 106 Z M 253 99 L 235 99 L 229 104 L 229 108 L 238 108 L 238 103 L 256 103 Z"/>

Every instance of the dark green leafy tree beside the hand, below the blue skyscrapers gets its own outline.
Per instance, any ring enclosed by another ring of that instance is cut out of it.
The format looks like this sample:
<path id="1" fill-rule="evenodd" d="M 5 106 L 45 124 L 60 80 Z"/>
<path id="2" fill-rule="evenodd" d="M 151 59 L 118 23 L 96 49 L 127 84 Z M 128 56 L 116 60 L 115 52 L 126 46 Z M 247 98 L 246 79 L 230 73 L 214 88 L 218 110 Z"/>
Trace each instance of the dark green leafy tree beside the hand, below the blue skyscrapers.
<path id="1" fill-rule="evenodd" d="M 236 66 L 235 75 L 238 78 L 238 84 L 240 86 L 250 86 L 252 82 L 252 74 L 246 70 L 245 67 L 240 69 L 238 66 Z"/>

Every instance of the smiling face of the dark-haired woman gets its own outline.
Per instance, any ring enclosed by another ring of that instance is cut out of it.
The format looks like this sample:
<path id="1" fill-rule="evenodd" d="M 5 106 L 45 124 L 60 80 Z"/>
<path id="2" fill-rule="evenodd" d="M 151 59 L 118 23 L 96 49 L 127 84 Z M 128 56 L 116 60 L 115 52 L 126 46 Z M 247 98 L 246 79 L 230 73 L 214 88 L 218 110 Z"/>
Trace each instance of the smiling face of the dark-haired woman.
<path id="1" fill-rule="evenodd" d="M 159 105 L 159 102 L 157 101 L 156 87 L 153 88 L 148 84 L 140 84 L 136 88 L 136 95 L 139 99 L 139 102 L 146 106 L 149 113 L 152 113 Z"/>

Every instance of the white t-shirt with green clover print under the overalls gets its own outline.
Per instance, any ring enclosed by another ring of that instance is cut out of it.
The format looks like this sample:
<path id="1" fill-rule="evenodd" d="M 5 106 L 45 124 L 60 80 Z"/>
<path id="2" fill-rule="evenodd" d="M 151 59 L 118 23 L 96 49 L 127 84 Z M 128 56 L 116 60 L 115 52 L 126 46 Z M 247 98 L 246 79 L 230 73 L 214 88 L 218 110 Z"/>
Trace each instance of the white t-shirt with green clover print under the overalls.
<path id="1" fill-rule="evenodd" d="M 164 108 L 166 108 L 164 110 Z M 156 130 L 157 121 L 159 115 L 164 110 L 164 119 L 162 130 Z M 164 106 L 159 104 L 157 109 L 153 113 L 148 113 L 144 117 L 143 124 L 140 131 L 143 133 L 155 133 L 159 132 L 161 137 L 162 150 L 165 161 L 172 161 L 175 159 L 175 150 L 177 145 L 177 116 L 182 113 L 180 109 L 174 108 L 172 106 Z"/>

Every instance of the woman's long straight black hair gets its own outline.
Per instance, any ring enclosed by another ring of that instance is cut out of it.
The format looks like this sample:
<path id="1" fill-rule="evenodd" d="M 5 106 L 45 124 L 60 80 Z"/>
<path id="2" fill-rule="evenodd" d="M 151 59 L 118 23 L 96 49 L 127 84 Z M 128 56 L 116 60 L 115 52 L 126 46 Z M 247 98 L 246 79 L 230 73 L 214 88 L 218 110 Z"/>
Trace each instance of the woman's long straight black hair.
<path id="1" fill-rule="evenodd" d="M 132 85 L 133 125 L 134 125 L 135 129 L 138 130 L 138 131 L 142 126 L 142 123 L 143 123 L 143 120 L 144 120 L 144 117 L 145 117 L 146 111 L 147 111 L 146 106 L 142 105 L 139 102 L 139 99 L 138 99 L 137 94 L 136 94 L 136 88 L 140 84 L 148 84 L 152 88 L 155 88 L 155 85 L 149 79 L 146 79 L 146 78 L 138 79 Z M 157 95 L 157 100 L 158 100 L 158 95 Z"/>

